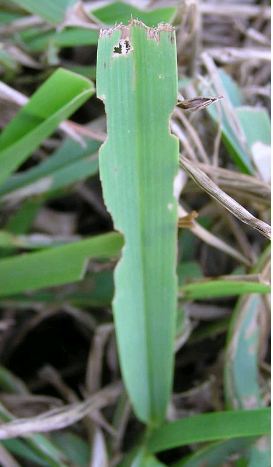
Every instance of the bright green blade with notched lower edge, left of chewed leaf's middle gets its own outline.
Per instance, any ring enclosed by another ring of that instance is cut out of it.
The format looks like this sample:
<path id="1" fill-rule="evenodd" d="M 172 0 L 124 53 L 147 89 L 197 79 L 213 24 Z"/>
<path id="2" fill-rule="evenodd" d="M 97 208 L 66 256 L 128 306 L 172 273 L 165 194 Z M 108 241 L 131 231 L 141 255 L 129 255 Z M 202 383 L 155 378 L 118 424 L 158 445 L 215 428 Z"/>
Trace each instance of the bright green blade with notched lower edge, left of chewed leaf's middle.
<path id="1" fill-rule="evenodd" d="M 121 236 L 110 233 L 2 259 L 0 296 L 78 281 L 85 273 L 89 258 L 116 256 L 121 246 Z"/>

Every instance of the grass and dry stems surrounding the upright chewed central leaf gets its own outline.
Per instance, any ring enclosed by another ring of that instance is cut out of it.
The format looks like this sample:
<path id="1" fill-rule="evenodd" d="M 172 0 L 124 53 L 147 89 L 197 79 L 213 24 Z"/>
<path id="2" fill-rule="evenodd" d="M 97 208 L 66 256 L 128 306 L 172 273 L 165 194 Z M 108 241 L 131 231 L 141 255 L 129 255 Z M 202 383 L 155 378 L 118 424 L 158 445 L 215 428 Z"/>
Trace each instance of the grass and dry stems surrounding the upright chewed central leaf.
<path id="1" fill-rule="evenodd" d="M 132 17 L 177 38 L 175 369 L 153 432 L 121 383 L 98 174 L 99 30 Z M 4 467 L 269 465 L 269 33 L 266 1 L 0 1 Z"/>

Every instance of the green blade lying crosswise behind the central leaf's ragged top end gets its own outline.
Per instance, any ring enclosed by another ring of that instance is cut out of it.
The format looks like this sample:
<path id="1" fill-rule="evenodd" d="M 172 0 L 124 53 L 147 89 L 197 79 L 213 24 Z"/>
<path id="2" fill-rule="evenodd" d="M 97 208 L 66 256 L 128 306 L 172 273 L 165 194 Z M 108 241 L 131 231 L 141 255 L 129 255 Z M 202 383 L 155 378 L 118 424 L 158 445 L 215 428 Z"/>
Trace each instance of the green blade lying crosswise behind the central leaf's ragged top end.
<path id="1" fill-rule="evenodd" d="M 158 23 L 171 23 L 175 17 L 176 8 L 157 8 L 154 10 L 140 10 L 128 3 L 113 2 L 96 10 L 92 15 L 96 16 L 102 23 L 118 24 L 127 23 L 132 18 L 143 21 L 147 26 L 156 26 Z"/>

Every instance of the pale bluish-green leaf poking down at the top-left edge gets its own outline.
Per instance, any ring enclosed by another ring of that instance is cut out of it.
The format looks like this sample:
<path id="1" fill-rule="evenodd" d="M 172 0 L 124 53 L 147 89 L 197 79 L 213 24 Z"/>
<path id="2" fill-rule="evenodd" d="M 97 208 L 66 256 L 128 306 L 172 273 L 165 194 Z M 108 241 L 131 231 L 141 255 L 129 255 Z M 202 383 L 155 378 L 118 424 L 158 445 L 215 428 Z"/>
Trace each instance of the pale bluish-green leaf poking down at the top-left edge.
<path id="1" fill-rule="evenodd" d="M 58 24 L 65 19 L 65 13 L 76 0 L 12 0 L 13 3 L 32 15 L 41 16 L 52 24 Z"/>

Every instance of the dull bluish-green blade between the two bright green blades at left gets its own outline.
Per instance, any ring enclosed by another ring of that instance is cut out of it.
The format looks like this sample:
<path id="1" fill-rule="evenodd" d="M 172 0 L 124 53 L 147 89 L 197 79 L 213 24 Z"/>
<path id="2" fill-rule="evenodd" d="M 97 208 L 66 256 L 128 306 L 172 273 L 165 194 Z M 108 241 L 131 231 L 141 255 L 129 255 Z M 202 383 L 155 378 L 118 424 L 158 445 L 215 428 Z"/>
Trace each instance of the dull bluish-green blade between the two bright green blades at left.
<path id="1" fill-rule="evenodd" d="M 82 147 L 67 138 L 39 165 L 12 175 L 0 186 L 0 196 L 12 193 L 24 198 L 30 193 L 50 193 L 94 175 L 98 172 L 98 158 L 93 154 L 99 146 L 99 143 L 88 139 Z"/>

